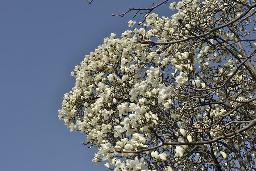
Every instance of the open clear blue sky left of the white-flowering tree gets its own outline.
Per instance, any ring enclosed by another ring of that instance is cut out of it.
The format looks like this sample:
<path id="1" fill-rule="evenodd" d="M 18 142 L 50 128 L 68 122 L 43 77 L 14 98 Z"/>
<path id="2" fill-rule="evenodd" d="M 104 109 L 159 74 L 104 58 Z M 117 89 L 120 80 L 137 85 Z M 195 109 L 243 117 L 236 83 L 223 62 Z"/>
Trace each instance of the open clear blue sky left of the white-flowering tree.
<path id="1" fill-rule="evenodd" d="M 153 2 L 160 1 L 0 0 L 1 171 L 107 170 L 92 163 L 96 149 L 58 120 L 58 109 L 74 87 L 74 66 L 110 33 L 129 30 L 131 14 L 111 14 Z"/>

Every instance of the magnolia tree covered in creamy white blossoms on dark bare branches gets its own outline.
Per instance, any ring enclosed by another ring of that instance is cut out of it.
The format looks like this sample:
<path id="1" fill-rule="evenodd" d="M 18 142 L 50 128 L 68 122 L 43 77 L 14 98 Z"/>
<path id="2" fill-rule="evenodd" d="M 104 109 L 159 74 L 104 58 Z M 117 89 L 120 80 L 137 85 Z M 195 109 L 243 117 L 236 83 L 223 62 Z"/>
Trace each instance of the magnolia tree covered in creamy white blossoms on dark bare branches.
<path id="1" fill-rule="evenodd" d="M 75 67 L 59 119 L 108 169 L 256 170 L 256 1 L 168 5 L 128 10 L 148 12 Z"/>

